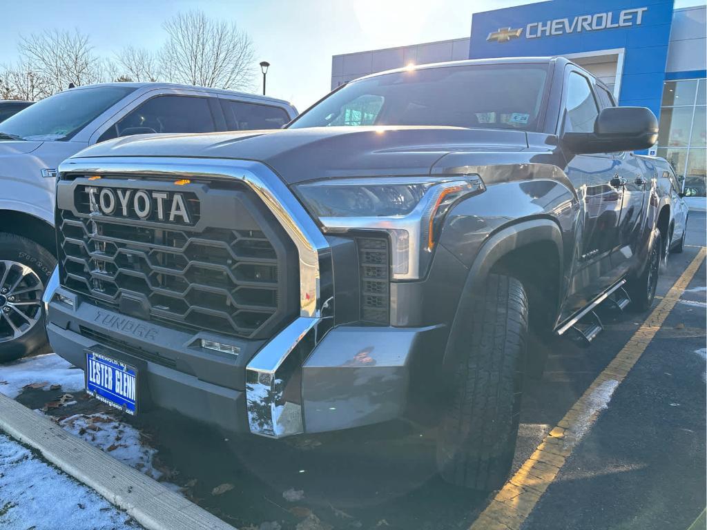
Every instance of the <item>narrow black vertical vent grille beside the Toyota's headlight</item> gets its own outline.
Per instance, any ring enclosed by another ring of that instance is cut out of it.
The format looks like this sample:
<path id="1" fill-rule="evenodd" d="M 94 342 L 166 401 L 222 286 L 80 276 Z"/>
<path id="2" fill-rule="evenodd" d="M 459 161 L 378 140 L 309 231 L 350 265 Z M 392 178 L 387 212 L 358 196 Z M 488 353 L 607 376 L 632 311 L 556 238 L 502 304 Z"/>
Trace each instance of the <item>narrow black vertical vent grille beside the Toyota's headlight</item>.
<path id="1" fill-rule="evenodd" d="M 390 261 L 383 238 L 357 237 L 361 275 L 361 320 L 387 324 L 390 320 Z"/>

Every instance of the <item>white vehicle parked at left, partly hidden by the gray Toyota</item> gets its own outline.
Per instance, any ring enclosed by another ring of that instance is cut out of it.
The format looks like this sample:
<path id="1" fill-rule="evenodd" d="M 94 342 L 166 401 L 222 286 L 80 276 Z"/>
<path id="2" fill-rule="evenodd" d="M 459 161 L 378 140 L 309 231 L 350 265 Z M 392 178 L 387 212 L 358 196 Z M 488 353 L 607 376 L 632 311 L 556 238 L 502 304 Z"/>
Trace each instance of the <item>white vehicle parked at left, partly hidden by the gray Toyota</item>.
<path id="1" fill-rule="evenodd" d="M 0 362 L 48 348 L 41 300 L 56 264 L 62 160 L 118 136 L 279 129 L 296 115 L 288 102 L 258 95 L 105 83 L 58 93 L 0 123 Z"/>

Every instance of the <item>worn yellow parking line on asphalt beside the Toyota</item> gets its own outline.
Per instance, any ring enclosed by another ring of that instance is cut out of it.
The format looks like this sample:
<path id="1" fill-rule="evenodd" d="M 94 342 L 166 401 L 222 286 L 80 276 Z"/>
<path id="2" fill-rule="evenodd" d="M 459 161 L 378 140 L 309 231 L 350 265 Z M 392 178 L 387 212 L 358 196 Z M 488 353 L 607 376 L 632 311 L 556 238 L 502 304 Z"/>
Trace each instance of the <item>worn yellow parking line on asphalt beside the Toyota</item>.
<path id="1" fill-rule="evenodd" d="M 658 333 L 658 329 L 702 264 L 705 254 L 706 248 L 701 247 L 682 276 L 631 336 L 626 346 L 540 442 L 530 458 L 506 482 L 496 497 L 493 497 L 469 530 L 520 529 L 542 494 L 556 478 L 567 457 L 591 428 L 602 408 L 607 405 L 614 389 L 624 380 L 648 343 Z"/>

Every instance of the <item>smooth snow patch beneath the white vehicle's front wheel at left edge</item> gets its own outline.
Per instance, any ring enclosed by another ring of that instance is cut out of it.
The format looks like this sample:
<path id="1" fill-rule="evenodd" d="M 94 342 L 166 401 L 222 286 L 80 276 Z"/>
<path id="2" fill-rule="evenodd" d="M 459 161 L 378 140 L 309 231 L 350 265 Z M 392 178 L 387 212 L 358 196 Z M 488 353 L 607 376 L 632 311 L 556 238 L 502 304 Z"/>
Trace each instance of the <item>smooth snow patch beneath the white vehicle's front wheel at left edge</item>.
<path id="1" fill-rule="evenodd" d="M 49 389 L 52 384 L 62 385 L 62 390 L 83 390 L 83 370 L 71 366 L 56 353 L 36 355 L 0 365 L 0 394 L 13 399 L 28 384 L 41 384 Z M 37 387 L 40 388 L 40 387 Z"/>

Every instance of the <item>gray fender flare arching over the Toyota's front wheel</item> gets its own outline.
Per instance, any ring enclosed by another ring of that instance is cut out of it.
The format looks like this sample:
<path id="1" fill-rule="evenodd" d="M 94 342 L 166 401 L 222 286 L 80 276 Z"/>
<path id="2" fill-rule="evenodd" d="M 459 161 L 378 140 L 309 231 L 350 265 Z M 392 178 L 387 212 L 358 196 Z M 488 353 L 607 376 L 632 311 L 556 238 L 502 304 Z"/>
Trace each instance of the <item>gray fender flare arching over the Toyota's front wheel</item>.
<path id="1" fill-rule="evenodd" d="M 471 308 L 479 302 L 477 296 L 479 287 L 486 282 L 486 277 L 489 276 L 491 267 L 496 264 L 498 259 L 501 259 L 501 257 L 514 249 L 531 243 L 547 241 L 553 242 L 557 247 L 557 254 L 560 260 L 559 276 L 562 278 L 562 232 L 559 225 L 553 220 L 547 218 L 525 220 L 498 230 L 498 232 L 491 235 L 491 237 L 484 242 L 484 245 L 479 249 L 479 253 L 467 273 L 467 280 L 464 282 L 454 320 L 450 327 L 447 346 L 442 361 L 442 374 L 445 379 L 448 379 L 457 364 L 458 353 L 462 349 L 457 347 L 457 343 L 462 337 L 462 331 L 468 328 L 468 322 L 464 319 L 466 315 L 469 314 Z"/>

